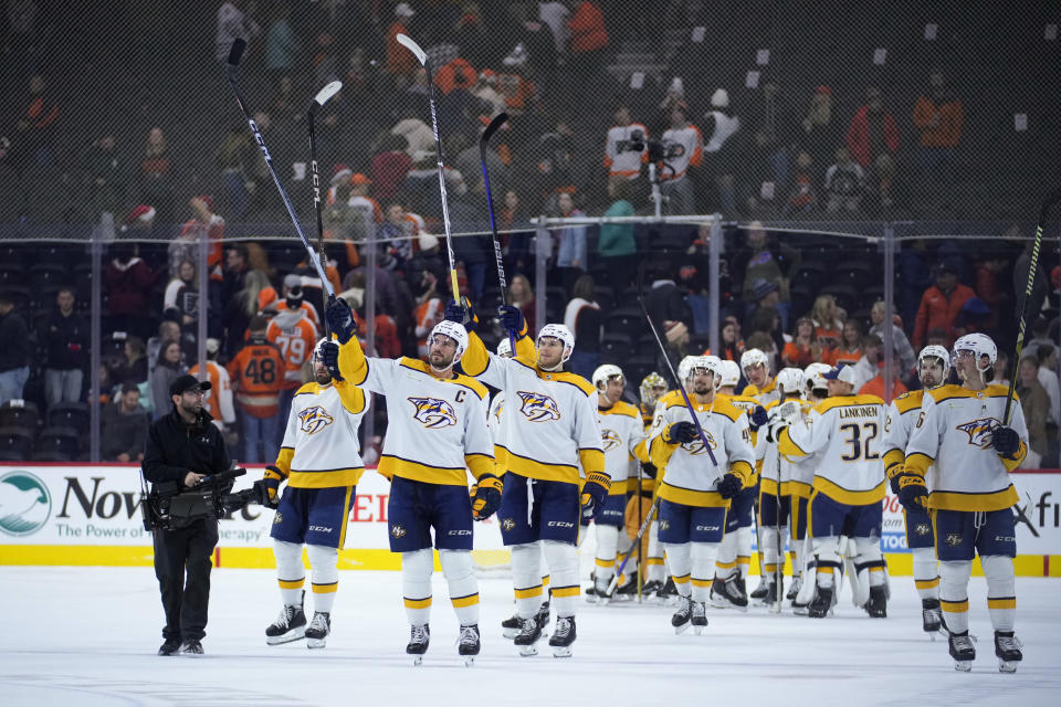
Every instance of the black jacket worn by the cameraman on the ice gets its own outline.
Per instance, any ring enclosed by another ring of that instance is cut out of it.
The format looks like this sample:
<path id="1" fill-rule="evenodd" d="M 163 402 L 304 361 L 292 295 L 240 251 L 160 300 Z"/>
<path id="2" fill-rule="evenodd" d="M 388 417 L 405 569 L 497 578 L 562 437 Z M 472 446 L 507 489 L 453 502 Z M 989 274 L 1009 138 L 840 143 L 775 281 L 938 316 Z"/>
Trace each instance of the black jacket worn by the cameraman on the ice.
<path id="1" fill-rule="evenodd" d="M 144 450 L 144 477 L 153 484 L 182 484 L 188 472 L 207 474 L 229 468 L 229 451 L 221 431 L 210 423 L 206 411 L 195 424 L 188 424 L 172 410 L 151 423 Z"/>

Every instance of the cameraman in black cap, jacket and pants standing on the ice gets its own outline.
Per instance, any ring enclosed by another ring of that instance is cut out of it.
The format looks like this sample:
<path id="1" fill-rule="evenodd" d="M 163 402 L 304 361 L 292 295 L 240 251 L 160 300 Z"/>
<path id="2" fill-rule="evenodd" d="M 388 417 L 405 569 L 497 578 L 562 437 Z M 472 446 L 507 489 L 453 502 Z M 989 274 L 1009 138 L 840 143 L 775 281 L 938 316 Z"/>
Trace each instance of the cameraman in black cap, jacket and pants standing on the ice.
<path id="1" fill-rule="evenodd" d="M 169 386 L 174 409 L 151 423 L 144 452 L 144 477 L 153 484 L 196 486 L 204 475 L 229 468 L 224 439 L 202 409 L 210 381 L 181 376 Z M 210 556 L 218 544 L 218 521 L 192 520 L 174 530 L 155 530 L 155 574 L 166 611 L 159 655 L 201 654 L 210 599 Z M 187 568 L 187 583 L 185 581 Z"/>

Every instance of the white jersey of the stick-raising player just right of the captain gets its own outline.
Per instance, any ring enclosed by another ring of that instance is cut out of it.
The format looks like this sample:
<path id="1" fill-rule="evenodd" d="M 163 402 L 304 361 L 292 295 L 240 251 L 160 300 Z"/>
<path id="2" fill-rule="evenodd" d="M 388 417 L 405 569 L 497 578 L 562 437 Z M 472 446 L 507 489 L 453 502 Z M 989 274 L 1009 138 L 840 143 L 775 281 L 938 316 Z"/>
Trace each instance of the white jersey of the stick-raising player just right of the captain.
<path id="1" fill-rule="evenodd" d="M 505 395 L 497 446 L 508 472 L 568 484 L 581 483 L 579 467 L 586 477 L 605 474 L 597 391 L 588 380 L 538 369 L 526 336 L 516 339 L 515 358 L 502 358 L 472 333 L 461 366 Z"/>

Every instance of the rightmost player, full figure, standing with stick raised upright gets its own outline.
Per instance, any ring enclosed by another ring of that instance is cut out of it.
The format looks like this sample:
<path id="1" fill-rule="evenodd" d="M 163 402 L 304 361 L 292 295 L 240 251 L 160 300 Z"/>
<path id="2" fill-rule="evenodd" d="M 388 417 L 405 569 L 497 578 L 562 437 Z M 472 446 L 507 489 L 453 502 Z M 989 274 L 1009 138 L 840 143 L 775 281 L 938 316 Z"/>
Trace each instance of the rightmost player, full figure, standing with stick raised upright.
<path id="1" fill-rule="evenodd" d="M 979 555 L 995 627 L 995 655 L 999 669 L 1012 673 L 1023 656 L 1013 635 L 1017 544 L 1010 507 L 1018 496 L 1009 472 L 1028 453 L 1028 429 L 1016 397 L 1006 424 L 1008 390 L 988 383 L 995 377 L 997 357 L 995 342 L 984 334 L 967 334 L 955 341 L 952 365 L 962 384 L 925 393 L 897 485 L 905 508 L 927 507 L 933 517 L 939 604 L 955 667 L 969 671 L 976 658 L 967 592 L 973 558 Z"/>

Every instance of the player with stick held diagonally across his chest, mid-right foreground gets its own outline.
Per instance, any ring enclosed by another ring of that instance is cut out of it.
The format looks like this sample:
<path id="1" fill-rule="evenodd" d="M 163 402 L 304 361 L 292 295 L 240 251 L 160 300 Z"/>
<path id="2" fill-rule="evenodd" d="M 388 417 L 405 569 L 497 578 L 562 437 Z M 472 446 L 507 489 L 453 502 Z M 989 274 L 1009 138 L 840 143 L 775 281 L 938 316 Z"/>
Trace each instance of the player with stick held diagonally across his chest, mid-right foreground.
<path id="1" fill-rule="evenodd" d="M 747 416 L 715 394 L 721 366 L 707 357 L 679 367 L 704 439 L 681 391 L 660 400 L 650 433 L 652 462 L 660 469 L 660 541 L 681 595 L 671 618 L 675 633 L 707 625 L 705 602 L 731 499 L 752 477 L 754 456 Z M 685 361 L 683 361 L 684 363 Z"/>

